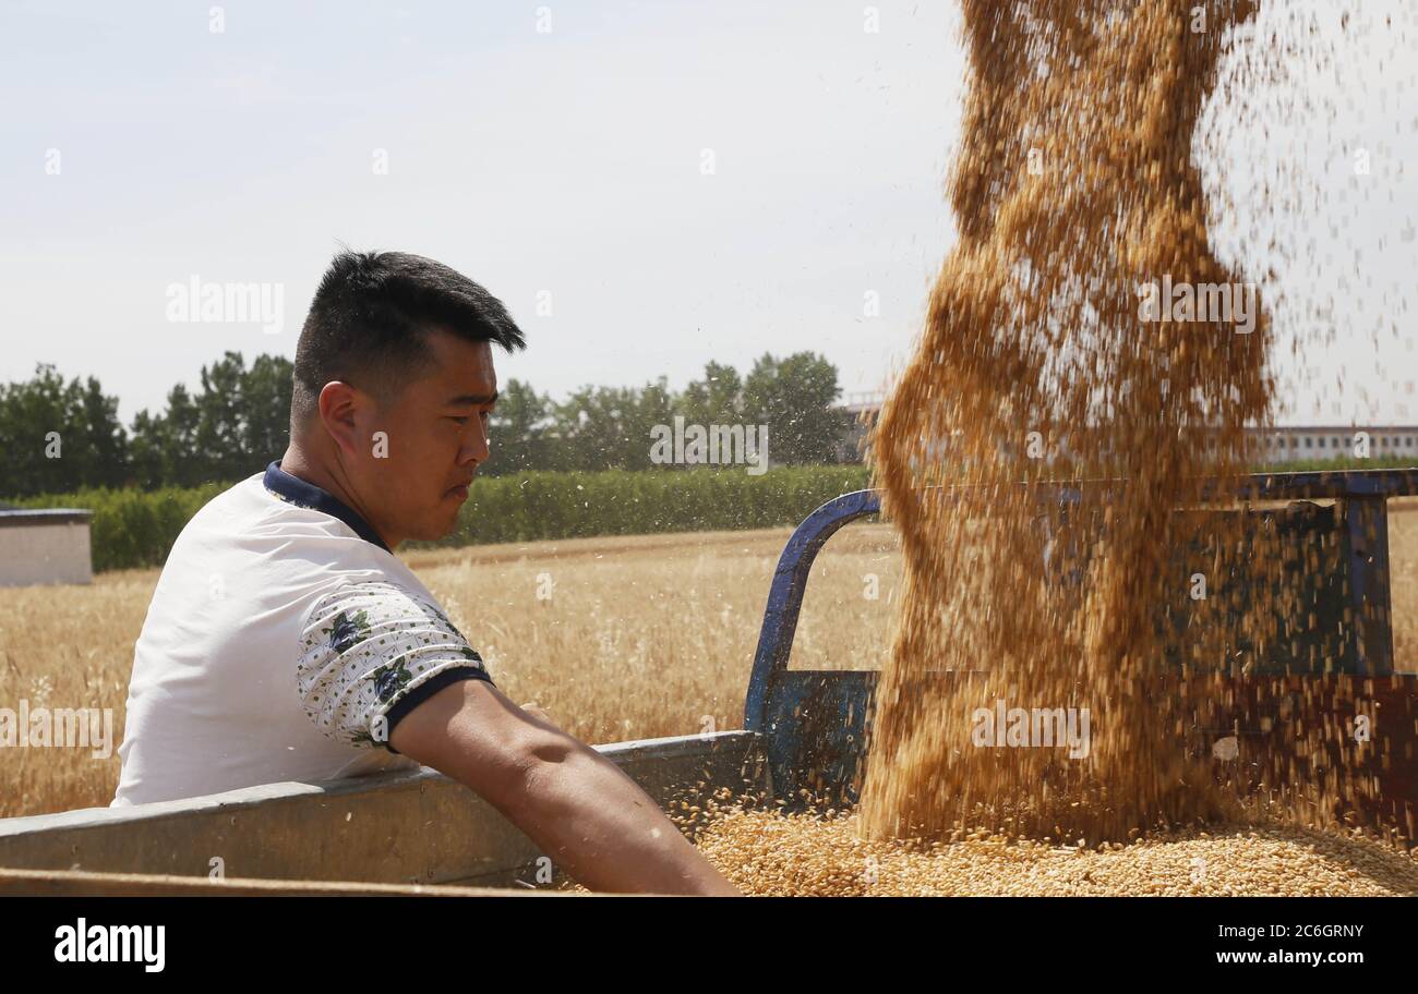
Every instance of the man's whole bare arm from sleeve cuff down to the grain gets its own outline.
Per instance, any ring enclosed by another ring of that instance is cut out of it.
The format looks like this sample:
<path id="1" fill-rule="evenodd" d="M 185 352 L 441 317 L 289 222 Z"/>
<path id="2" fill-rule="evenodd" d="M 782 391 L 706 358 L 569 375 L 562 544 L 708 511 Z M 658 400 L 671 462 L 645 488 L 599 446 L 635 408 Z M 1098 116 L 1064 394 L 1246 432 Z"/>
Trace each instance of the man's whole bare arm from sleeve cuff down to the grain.
<path id="1" fill-rule="evenodd" d="M 390 745 L 471 787 L 591 891 L 739 893 L 613 762 L 484 680 L 434 694 Z"/>

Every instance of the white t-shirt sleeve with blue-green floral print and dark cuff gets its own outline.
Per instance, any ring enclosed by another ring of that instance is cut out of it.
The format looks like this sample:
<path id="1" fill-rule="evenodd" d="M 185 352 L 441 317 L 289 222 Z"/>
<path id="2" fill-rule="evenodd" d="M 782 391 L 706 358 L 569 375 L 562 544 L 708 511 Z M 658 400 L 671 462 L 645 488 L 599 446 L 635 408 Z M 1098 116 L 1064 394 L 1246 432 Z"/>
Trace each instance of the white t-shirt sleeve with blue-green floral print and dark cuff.
<path id="1" fill-rule="evenodd" d="M 452 622 L 427 598 L 384 581 L 325 595 L 301 634 L 296 688 L 325 735 L 352 746 L 389 745 L 414 705 L 488 668 Z"/>

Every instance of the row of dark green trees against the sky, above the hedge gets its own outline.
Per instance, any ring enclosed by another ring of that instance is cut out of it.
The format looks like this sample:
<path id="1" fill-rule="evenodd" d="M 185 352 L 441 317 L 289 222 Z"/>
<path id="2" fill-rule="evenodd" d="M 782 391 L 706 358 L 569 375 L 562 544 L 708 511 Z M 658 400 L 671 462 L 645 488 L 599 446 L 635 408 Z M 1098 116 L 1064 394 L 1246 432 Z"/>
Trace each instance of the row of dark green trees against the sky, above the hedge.
<path id="1" fill-rule="evenodd" d="M 118 398 L 98 379 L 65 382 L 40 365 L 0 384 L 0 496 L 79 487 L 190 487 L 248 476 L 285 450 L 291 361 L 227 353 L 201 370 L 201 385 L 173 387 L 166 409 L 118 418 Z M 520 470 L 649 469 L 652 429 L 672 425 L 767 425 L 773 464 L 832 463 L 848 416 L 834 405 L 837 368 L 813 353 L 763 355 L 740 377 L 709 362 L 682 392 L 664 378 L 644 387 L 583 387 L 564 401 L 526 382 L 502 385 L 492 418 L 489 476 Z"/>

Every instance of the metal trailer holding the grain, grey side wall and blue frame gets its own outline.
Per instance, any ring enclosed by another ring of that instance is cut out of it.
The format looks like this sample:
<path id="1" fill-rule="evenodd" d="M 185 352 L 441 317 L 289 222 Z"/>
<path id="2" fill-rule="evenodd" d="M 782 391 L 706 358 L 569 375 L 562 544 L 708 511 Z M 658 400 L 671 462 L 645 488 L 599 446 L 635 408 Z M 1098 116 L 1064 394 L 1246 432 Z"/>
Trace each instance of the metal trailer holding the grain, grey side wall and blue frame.
<path id="1" fill-rule="evenodd" d="M 1322 592 L 1343 600 L 1332 605 L 1341 619 L 1340 667 L 1285 680 L 1307 684 L 1310 694 L 1317 684 L 1360 688 L 1329 702 L 1353 711 L 1358 697 L 1375 708 L 1373 776 L 1383 814 L 1400 818 L 1418 809 L 1418 674 L 1392 668 L 1387 500 L 1412 494 L 1418 470 L 1265 474 L 1251 477 L 1245 494 L 1334 501 L 1320 515 L 1305 503 L 1249 513 L 1271 515 L 1266 522 L 1302 542 L 1326 532 L 1340 542 L 1343 576 Z M 1068 501 L 1076 491 L 1055 486 L 1046 497 Z M 878 511 L 876 491 L 844 494 L 788 539 L 769 590 L 742 731 L 597 749 L 661 806 L 722 787 L 790 803 L 803 792 L 852 803 L 878 674 L 790 670 L 788 660 L 817 554 L 839 528 Z M 1235 677 L 1235 719 L 1198 729 L 1204 738 L 1236 735 L 1242 762 L 1285 749 L 1283 721 L 1246 707 L 1262 699 L 1249 694 L 1259 680 L 1271 677 Z M 496 810 L 430 769 L 0 820 L 0 893 L 536 893 L 516 885 L 532 886 L 539 857 Z"/>

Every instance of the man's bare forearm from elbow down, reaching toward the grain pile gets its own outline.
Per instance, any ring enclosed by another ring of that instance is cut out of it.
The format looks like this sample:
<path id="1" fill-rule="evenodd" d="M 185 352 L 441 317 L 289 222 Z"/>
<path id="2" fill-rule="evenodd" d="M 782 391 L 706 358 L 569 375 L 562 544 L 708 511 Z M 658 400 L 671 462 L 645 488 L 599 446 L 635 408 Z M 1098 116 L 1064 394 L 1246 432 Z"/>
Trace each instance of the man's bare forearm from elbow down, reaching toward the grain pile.
<path id="1" fill-rule="evenodd" d="M 613 762 L 562 733 L 503 813 L 593 891 L 735 895 L 737 891 Z"/>

